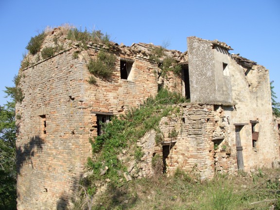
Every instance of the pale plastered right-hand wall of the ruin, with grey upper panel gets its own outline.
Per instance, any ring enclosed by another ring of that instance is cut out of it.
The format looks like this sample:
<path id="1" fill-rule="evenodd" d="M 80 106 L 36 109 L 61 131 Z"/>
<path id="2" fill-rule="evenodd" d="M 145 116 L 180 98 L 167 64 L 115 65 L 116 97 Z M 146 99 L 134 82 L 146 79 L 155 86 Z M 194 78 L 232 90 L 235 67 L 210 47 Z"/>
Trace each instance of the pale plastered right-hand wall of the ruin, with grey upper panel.
<path id="1" fill-rule="evenodd" d="M 188 46 L 191 101 L 222 105 L 232 145 L 236 144 L 235 129 L 241 129 L 245 171 L 271 167 L 279 156 L 271 131 L 268 70 L 239 55 L 230 55 L 227 51 L 232 49 L 223 42 L 189 37 Z"/>

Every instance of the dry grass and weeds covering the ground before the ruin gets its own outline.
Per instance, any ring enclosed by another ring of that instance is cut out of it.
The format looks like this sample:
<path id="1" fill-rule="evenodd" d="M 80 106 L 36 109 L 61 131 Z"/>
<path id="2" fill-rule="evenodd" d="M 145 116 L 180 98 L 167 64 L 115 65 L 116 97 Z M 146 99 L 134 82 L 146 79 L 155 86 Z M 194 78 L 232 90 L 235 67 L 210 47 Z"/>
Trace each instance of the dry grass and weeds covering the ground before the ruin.
<path id="1" fill-rule="evenodd" d="M 135 179 L 120 186 L 108 182 L 106 190 L 94 198 L 91 209 L 270 210 L 274 206 L 279 210 L 279 169 L 262 169 L 263 176 L 254 182 L 252 176 L 258 174 L 217 174 L 200 182 L 192 173 L 177 169 L 169 177 Z"/>

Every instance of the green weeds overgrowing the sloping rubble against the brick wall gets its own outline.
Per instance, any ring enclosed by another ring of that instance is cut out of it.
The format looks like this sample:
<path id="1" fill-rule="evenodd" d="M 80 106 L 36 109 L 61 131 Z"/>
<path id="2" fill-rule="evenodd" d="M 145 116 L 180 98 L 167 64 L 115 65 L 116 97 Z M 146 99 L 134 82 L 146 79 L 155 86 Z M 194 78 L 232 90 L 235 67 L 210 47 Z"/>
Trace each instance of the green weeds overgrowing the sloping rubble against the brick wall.
<path id="1" fill-rule="evenodd" d="M 110 185 L 114 187 L 123 186 L 123 172 L 126 172 L 126 167 L 118 155 L 124 148 L 130 148 L 134 151 L 135 159 L 139 161 L 143 154 L 140 148 L 135 148 L 136 141 L 146 132 L 157 130 L 161 118 L 172 114 L 172 105 L 184 100 L 177 93 L 161 89 L 156 97 L 148 98 L 140 108 L 129 110 L 121 119 L 115 117 L 110 123 L 102 124 L 104 133 L 94 140 L 90 139 L 93 158 L 88 158 L 88 169 L 93 173 L 88 177 L 87 192 L 93 192 L 95 183 L 106 179 L 109 179 Z M 108 170 L 101 175 L 106 167 Z"/>

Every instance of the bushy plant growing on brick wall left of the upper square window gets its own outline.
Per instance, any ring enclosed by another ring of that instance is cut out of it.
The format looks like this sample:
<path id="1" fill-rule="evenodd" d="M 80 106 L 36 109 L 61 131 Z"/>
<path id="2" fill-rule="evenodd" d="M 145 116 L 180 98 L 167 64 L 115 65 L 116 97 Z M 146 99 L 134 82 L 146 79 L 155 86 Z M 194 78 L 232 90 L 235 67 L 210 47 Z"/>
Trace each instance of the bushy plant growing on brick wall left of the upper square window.
<path id="1" fill-rule="evenodd" d="M 101 50 L 97 54 L 97 58 L 95 60 L 89 60 L 88 71 L 95 76 L 107 79 L 111 77 L 114 72 L 116 59 L 115 54 L 107 53 L 104 50 Z M 95 84 L 96 80 L 91 77 L 88 82 L 90 84 Z"/>

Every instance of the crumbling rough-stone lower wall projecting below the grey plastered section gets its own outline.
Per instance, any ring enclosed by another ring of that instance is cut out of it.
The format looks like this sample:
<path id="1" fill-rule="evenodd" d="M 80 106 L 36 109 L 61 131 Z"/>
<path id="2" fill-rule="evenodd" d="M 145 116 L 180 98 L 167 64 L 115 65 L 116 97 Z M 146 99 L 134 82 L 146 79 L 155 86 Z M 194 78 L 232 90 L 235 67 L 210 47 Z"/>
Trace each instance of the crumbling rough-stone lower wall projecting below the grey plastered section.
<path id="1" fill-rule="evenodd" d="M 156 142 L 155 131 L 138 141 L 144 152 L 138 165 L 141 174 L 155 174 L 152 162 L 156 155 L 162 158 L 161 170 L 167 174 L 173 174 L 177 168 L 197 174 L 201 179 L 211 178 L 215 173 L 236 173 L 236 145 L 228 138 L 227 124 L 220 124 L 225 118 L 222 108 L 191 103 L 175 109 L 177 114 L 163 117 L 159 123 L 164 135 L 161 142 Z"/>

